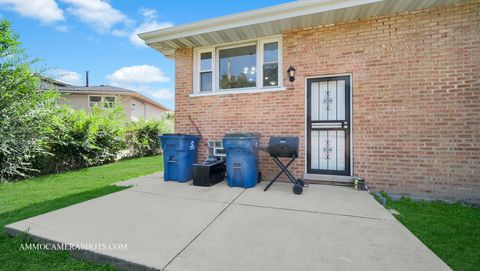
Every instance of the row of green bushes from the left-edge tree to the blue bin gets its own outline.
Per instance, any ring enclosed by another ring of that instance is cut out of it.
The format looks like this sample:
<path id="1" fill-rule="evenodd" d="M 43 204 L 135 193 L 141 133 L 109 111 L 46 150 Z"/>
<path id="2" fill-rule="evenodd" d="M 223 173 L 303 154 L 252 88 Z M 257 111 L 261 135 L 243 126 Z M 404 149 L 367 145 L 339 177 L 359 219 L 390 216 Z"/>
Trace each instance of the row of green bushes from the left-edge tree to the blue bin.
<path id="1" fill-rule="evenodd" d="M 172 131 L 172 115 L 158 121 L 126 122 L 120 105 L 89 113 L 63 107 L 52 118 L 46 152 L 34 166 L 45 174 L 156 155 L 161 152 L 158 135 Z"/>

